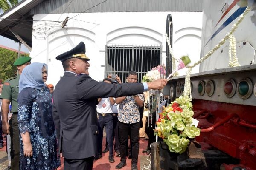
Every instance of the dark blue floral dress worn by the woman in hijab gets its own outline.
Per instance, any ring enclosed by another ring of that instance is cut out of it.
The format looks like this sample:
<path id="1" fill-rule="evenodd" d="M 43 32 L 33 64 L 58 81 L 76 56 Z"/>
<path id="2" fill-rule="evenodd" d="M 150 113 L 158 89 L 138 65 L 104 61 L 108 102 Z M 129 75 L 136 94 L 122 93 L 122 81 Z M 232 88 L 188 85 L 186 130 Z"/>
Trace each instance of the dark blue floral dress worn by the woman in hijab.
<path id="1" fill-rule="evenodd" d="M 18 96 L 20 170 L 54 170 L 60 165 L 48 88 L 24 88 Z M 30 133 L 33 156 L 23 154 L 21 133 Z"/>

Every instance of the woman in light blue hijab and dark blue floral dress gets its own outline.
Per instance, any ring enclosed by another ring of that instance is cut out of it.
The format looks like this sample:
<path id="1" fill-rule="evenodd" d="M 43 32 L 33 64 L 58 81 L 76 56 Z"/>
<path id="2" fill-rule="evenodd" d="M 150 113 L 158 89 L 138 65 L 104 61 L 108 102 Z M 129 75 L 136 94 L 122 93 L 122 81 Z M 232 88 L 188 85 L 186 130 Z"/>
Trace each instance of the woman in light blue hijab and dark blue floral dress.
<path id="1" fill-rule="evenodd" d="M 47 65 L 24 68 L 19 82 L 20 170 L 54 170 L 60 165 L 52 119 L 52 95 L 44 82 Z"/>

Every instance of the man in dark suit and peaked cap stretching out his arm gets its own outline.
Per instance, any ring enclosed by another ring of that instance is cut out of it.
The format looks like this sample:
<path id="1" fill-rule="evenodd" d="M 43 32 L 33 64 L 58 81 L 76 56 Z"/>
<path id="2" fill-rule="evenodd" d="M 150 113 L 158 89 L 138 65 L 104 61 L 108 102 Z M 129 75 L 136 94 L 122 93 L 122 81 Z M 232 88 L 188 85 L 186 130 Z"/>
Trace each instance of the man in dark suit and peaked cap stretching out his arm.
<path id="1" fill-rule="evenodd" d="M 92 170 L 97 155 L 97 98 L 141 94 L 148 89 L 162 89 L 166 79 L 150 83 L 110 84 L 89 76 L 89 58 L 84 42 L 56 57 L 61 60 L 64 76 L 55 86 L 53 119 L 64 170 Z"/>

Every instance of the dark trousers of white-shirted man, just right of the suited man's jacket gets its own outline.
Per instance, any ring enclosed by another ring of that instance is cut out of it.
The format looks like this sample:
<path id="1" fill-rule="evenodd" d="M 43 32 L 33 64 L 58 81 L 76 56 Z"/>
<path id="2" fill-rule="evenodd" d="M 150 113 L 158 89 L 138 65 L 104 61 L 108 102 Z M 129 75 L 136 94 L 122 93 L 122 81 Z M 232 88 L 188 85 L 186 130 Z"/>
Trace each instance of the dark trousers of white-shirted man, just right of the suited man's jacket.
<path id="1" fill-rule="evenodd" d="M 103 128 L 106 130 L 106 138 L 109 148 L 109 156 L 113 156 L 113 116 L 112 114 L 102 116 L 99 114 L 98 119 L 98 154 L 102 154 L 102 138 L 103 138 Z"/>

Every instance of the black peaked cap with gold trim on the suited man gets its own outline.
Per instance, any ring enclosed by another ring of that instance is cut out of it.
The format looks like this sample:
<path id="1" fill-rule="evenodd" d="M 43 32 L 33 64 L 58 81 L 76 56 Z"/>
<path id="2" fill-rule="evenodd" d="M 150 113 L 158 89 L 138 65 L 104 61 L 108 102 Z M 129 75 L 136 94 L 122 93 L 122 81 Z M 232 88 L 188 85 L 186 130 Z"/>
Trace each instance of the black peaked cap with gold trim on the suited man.
<path id="1" fill-rule="evenodd" d="M 73 57 L 80 58 L 80 59 L 85 59 L 87 61 L 90 60 L 85 55 L 85 44 L 84 44 L 84 42 L 80 42 L 78 45 L 76 45 L 76 47 L 74 47 L 70 51 L 67 51 L 67 52 L 64 52 L 61 55 L 58 55 L 56 57 L 56 59 L 61 60 L 61 62 L 64 62 L 65 60 L 73 58 Z"/>

